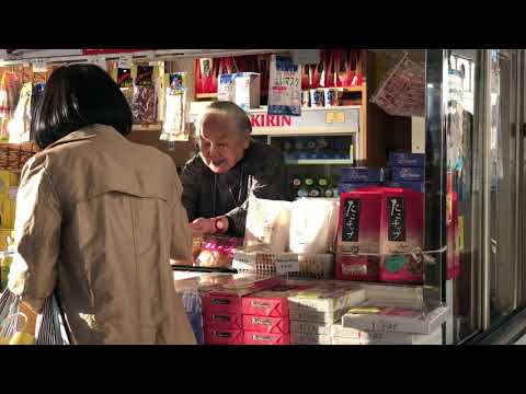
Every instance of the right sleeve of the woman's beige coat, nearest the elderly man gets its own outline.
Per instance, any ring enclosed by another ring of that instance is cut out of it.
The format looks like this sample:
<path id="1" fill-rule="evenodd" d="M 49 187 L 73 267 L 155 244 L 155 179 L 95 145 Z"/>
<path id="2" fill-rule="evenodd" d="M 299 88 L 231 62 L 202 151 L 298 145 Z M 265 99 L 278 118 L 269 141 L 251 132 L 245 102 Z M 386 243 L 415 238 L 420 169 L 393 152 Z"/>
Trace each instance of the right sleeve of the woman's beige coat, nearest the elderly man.
<path id="1" fill-rule="evenodd" d="M 175 173 L 174 193 L 172 205 L 172 240 L 170 258 L 174 260 L 192 262 L 192 230 L 188 225 L 186 210 L 181 202 L 182 186 Z"/>

